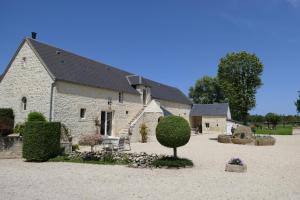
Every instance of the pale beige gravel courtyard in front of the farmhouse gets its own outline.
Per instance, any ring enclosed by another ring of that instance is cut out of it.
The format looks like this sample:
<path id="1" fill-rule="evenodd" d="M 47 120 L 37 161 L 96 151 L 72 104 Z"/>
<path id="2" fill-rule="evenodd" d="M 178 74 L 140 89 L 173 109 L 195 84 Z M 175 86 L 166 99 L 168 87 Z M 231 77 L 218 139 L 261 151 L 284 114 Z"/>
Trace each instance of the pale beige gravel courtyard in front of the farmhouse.
<path id="1" fill-rule="evenodd" d="M 195 164 L 180 170 L 0 160 L 0 199 L 300 199 L 300 135 L 276 136 L 271 147 L 214 138 L 193 136 L 179 148 L 178 155 Z M 157 143 L 132 148 L 172 153 Z M 225 172 L 232 157 L 245 161 L 248 172 Z"/>

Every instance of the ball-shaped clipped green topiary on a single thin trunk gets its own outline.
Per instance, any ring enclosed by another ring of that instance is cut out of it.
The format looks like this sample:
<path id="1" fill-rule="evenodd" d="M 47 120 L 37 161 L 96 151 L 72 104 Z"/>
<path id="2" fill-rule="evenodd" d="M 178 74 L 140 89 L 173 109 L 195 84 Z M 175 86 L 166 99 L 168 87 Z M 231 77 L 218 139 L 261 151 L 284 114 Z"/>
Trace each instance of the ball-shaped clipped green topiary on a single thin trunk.
<path id="1" fill-rule="evenodd" d="M 183 117 L 164 117 L 156 127 L 158 142 L 163 146 L 173 148 L 175 158 L 177 157 L 177 147 L 187 144 L 190 137 L 190 125 Z"/>

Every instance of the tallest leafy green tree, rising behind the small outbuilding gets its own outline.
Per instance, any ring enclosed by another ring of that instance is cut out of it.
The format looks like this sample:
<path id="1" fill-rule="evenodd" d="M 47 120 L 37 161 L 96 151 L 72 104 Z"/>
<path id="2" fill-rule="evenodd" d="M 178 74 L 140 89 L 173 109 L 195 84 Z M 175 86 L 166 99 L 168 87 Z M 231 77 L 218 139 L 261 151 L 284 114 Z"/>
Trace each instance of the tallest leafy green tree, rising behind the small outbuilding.
<path id="1" fill-rule="evenodd" d="M 221 58 L 218 79 L 228 99 L 232 117 L 247 122 L 249 110 L 256 106 L 256 91 L 262 85 L 263 64 L 255 54 L 245 51 Z"/>

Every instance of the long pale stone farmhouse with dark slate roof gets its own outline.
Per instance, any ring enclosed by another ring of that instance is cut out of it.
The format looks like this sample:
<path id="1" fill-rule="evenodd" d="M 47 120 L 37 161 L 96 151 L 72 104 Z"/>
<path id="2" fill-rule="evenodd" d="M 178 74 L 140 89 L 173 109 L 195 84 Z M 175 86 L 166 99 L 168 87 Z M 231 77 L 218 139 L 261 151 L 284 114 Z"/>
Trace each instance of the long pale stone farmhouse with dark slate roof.
<path id="1" fill-rule="evenodd" d="M 64 123 L 74 142 L 87 133 L 131 134 L 150 140 L 160 116 L 189 120 L 191 101 L 177 88 L 26 38 L 0 78 L 0 107 L 12 108 L 15 123 L 38 111 Z M 2 80 L 1 80 L 2 79 Z"/>

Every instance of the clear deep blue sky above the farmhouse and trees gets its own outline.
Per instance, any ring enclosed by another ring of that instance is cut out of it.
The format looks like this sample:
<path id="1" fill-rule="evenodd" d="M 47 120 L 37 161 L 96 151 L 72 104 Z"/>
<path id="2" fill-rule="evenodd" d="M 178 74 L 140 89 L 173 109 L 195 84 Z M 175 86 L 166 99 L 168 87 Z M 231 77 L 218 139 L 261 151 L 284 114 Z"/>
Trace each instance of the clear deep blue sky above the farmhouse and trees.
<path id="1" fill-rule="evenodd" d="M 251 113 L 296 114 L 300 0 L 0 1 L 0 73 L 21 40 L 38 40 L 184 93 L 228 52 L 256 53 L 264 85 Z"/>

